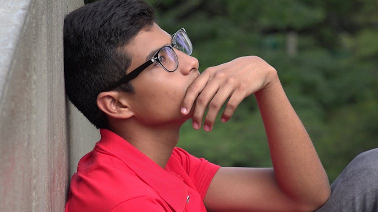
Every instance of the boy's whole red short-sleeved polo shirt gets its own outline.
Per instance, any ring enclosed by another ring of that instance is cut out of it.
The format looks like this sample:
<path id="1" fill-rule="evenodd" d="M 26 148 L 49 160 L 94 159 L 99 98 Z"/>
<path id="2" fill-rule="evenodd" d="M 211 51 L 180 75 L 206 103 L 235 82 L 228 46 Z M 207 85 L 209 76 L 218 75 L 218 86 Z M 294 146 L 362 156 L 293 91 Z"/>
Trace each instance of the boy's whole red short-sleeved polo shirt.
<path id="1" fill-rule="evenodd" d="M 165 168 L 107 129 L 72 176 L 67 211 L 206 211 L 220 166 L 175 147 Z"/>

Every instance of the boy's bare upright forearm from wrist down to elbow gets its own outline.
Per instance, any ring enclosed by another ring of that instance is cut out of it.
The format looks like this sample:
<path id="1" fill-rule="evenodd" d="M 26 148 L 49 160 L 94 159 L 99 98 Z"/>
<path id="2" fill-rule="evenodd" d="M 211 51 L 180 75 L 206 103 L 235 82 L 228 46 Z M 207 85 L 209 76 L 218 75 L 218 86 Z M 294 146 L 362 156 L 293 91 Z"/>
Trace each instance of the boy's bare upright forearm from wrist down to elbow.
<path id="1" fill-rule="evenodd" d="M 321 204 L 330 193 L 327 175 L 277 73 L 272 75 L 269 84 L 255 96 L 264 121 L 277 184 L 290 198 Z"/>

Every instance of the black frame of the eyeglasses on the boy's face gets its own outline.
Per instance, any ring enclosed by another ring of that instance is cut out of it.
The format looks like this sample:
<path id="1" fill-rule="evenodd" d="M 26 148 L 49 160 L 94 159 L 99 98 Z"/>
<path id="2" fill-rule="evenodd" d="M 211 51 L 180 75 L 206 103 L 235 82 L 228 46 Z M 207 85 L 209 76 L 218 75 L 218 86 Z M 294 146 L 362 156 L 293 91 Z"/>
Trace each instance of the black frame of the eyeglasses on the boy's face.
<path id="1" fill-rule="evenodd" d="M 172 34 L 172 43 L 171 44 L 168 44 L 168 45 L 164 45 L 162 46 L 161 48 L 159 48 L 159 50 L 156 51 L 156 53 L 153 55 L 153 57 L 151 59 L 149 59 L 148 61 L 144 62 L 143 64 L 141 64 L 140 66 L 138 66 L 137 68 L 135 68 L 134 70 L 130 71 L 129 73 L 127 73 L 126 75 L 124 75 L 121 79 L 119 79 L 117 82 L 115 82 L 113 85 L 109 86 L 106 90 L 110 91 L 110 90 L 113 90 L 114 88 L 118 87 L 119 85 L 121 84 L 124 84 L 124 83 L 127 83 L 128 81 L 130 81 L 131 79 L 134 79 L 135 77 L 137 77 L 139 75 L 139 73 L 141 73 L 144 69 L 146 69 L 149 65 L 151 65 L 152 63 L 154 62 L 159 62 L 159 64 L 161 65 L 161 67 L 164 68 L 164 70 L 168 71 L 168 72 L 173 72 L 177 69 L 178 67 L 178 58 L 177 58 L 177 54 L 176 52 L 174 51 L 173 47 L 174 48 L 177 48 L 178 50 L 181 51 L 181 49 L 179 49 L 177 47 L 177 44 L 176 44 L 176 41 L 175 41 L 175 38 L 176 38 L 176 34 L 180 31 L 183 31 L 186 36 L 187 36 L 187 33 L 186 33 L 186 30 L 184 28 L 180 28 L 176 33 Z M 189 39 L 189 43 L 190 44 L 190 52 L 187 52 L 188 55 L 191 55 L 192 54 L 192 51 L 193 51 L 193 46 L 192 46 L 192 43 L 190 42 L 190 39 Z M 165 47 L 169 47 L 172 49 L 172 51 L 174 52 L 174 56 L 176 57 L 176 61 L 177 61 L 177 65 L 176 67 L 173 69 L 173 70 L 168 70 L 164 67 L 164 65 L 161 64 L 159 58 L 158 58 L 158 54 L 160 52 L 161 49 L 165 48 Z M 185 52 L 186 53 L 186 52 Z"/>

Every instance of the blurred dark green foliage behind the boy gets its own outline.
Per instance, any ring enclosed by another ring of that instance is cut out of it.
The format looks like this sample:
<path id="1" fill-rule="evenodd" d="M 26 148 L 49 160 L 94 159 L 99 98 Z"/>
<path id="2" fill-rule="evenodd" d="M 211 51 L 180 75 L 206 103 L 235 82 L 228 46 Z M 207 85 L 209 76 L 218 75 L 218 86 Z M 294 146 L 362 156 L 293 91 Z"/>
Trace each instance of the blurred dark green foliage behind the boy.
<path id="1" fill-rule="evenodd" d="M 377 0 L 147 1 L 163 29 L 185 27 L 201 70 L 243 55 L 273 65 L 330 181 L 378 147 Z M 271 166 L 254 96 L 210 133 L 186 122 L 178 145 L 224 166 Z"/>

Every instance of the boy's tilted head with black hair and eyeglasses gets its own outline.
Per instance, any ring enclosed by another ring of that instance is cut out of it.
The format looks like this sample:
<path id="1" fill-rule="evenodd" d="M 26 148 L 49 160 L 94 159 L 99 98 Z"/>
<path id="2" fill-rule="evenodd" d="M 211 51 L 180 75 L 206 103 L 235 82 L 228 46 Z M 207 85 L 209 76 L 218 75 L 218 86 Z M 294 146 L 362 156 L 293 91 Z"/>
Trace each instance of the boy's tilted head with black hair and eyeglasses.
<path id="1" fill-rule="evenodd" d="M 179 106 L 199 74 L 185 36 L 182 29 L 173 36 L 162 30 L 153 9 L 140 0 L 100 0 L 73 11 L 64 22 L 69 99 L 98 128 L 110 128 L 109 118 L 184 120 Z"/>

